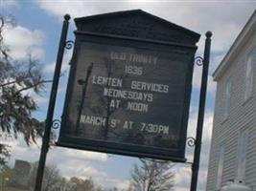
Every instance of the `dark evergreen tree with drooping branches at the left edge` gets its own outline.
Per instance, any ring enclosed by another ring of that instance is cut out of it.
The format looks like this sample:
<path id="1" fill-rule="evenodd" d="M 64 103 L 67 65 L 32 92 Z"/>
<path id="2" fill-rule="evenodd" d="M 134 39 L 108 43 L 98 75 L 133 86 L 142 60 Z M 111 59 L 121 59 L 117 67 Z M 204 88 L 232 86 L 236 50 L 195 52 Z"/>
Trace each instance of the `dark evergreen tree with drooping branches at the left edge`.
<path id="1" fill-rule="evenodd" d="M 4 32 L 14 25 L 13 19 L 0 15 L 0 138 L 23 135 L 29 145 L 43 133 L 43 123 L 32 116 L 37 109 L 30 93 L 39 94 L 45 83 L 38 60 L 16 60 L 5 44 Z M 14 36 L 13 36 L 14 37 Z M 0 143 L 0 165 L 10 156 L 8 146 Z"/>

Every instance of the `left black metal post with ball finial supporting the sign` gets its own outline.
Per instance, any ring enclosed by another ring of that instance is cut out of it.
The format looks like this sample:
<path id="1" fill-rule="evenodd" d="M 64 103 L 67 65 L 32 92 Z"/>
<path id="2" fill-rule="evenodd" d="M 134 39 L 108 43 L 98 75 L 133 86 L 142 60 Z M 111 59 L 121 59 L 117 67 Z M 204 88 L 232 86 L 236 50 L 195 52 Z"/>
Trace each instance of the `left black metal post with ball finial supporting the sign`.
<path id="1" fill-rule="evenodd" d="M 64 16 L 64 21 L 62 24 L 62 31 L 61 31 L 61 36 L 60 36 L 59 46 L 58 46 L 58 55 L 57 55 L 57 61 L 56 61 L 55 74 L 53 78 L 51 96 L 50 96 L 50 101 L 49 101 L 49 106 L 47 111 L 47 117 L 45 121 L 45 130 L 42 138 L 40 159 L 38 163 L 36 180 L 35 180 L 35 191 L 41 191 L 41 187 L 42 187 L 43 172 L 44 172 L 47 152 L 49 150 L 51 127 L 52 127 L 54 110 L 55 110 L 56 96 L 58 93 L 58 79 L 60 75 L 63 53 L 66 46 L 66 36 L 68 31 L 69 19 L 70 19 L 70 15 L 66 14 Z"/>

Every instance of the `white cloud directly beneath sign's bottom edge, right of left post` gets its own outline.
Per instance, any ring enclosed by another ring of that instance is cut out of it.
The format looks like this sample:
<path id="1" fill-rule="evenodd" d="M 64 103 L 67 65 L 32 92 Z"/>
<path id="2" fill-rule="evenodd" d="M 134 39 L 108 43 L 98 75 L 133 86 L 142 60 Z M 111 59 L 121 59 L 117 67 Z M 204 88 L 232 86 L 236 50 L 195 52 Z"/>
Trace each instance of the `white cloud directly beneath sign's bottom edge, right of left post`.
<path id="1" fill-rule="evenodd" d="M 128 188 L 128 180 L 113 178 L 103 169 L 101 163 L 107 165 L 108 156 L 104 153 L 81 151 L 54 147 L 48 155 L 48 163 L 58 163 L 61 175 L 66 178 L 92 178 L 103 187 Z"/>

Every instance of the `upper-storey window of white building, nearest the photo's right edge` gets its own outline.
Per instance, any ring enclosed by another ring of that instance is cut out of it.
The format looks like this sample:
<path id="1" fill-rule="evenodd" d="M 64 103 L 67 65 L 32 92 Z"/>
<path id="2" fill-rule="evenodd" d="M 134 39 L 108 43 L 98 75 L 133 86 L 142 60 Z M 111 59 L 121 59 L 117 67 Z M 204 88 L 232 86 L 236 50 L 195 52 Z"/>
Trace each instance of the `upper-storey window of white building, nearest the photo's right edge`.
<path id="1" fill-rule="evenodd" d="M 252 52 L 248 53 L 247 60 L 246 60 L 244 100 L 247 100 L 252 95 L 252 86 L 253 86 L 252 56 L 253 56 Z"/>

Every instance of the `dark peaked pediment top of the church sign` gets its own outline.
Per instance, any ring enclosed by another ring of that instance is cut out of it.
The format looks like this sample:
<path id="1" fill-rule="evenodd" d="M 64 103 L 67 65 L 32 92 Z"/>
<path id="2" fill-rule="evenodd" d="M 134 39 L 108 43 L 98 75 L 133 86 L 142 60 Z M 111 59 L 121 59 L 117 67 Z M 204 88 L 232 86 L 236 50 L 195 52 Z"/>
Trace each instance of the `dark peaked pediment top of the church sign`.
<path id="1" fill-rule="evenodd" d="M 78 32 L 196 46 L 200 35 L 146 11 L 117 11 L 75 18 Z"/>

